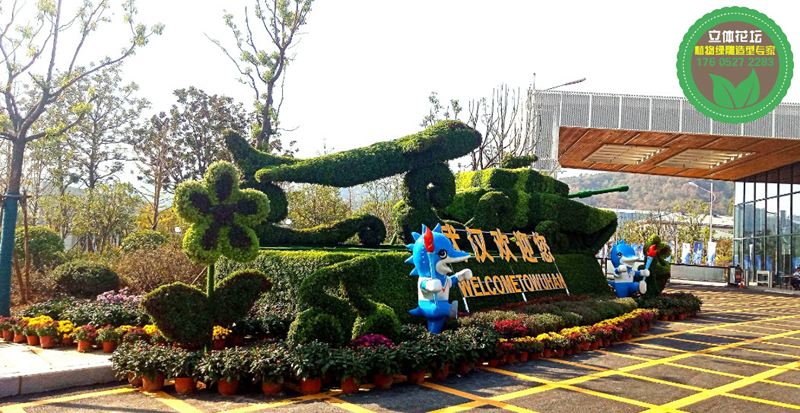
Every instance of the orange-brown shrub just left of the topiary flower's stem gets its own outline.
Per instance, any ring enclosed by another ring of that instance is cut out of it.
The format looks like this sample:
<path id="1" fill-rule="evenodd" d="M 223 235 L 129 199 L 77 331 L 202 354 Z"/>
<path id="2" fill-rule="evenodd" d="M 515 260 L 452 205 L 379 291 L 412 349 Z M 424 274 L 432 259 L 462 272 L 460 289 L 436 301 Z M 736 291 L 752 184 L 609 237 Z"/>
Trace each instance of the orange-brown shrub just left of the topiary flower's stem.
<path id="1" fill-rule="evenodd" d="M 138 293 L 174 282 L 193 285 L 203 268 L 189 261 L 181 247 L 172 243 L 128 252 L 113 265 L 128 288 Z"/>

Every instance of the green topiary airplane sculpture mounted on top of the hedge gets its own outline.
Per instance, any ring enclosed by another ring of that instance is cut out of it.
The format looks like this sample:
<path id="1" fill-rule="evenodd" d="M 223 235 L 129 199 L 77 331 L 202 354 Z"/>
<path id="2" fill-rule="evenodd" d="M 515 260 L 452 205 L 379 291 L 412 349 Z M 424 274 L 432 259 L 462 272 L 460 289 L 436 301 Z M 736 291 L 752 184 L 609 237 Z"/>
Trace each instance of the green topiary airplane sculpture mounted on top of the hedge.
<path id="1" fill-rule="evenodd" d="M 385 238 L 383 223 L 353 217 L 332 225 L 302 231 L 281 228 L 274 223 L 286 218 L 286 195 L 275 182 L 317 183 L 351 187 L 407 172 L 404 201 L 395 207 L 394 219 L 404 239 L 422 223 L 435 226 L 439 221 L 434 208 L 444 208 L 455 195 L 453 173 L 446 161 L 470 153 L 481 136 L 458 121 L 442 121 L 403 138 L 378 142 L 364 148 L 294 159 L 260 152 L 235 132 L 226 142 L 236 163 L 244 172 L 243 184 L 264 192 L 273 211 L 268 221 L 256 229 L 262 246 L 327 245 L 343 243 L 358 234 L 362 244 L 376 246 Z M 409 241 L 410 242 L 410 241 Z"/>

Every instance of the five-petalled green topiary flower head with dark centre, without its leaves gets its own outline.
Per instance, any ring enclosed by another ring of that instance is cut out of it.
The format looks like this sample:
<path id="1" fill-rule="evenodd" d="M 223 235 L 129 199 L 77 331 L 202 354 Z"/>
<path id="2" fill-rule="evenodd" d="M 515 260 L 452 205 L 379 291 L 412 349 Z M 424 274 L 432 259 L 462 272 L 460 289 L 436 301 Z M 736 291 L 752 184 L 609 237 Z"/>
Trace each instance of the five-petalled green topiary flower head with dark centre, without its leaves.
<path id="1" fill-rule="evenodd" d="M 175 211 L 192 224 L 183 250 L 198 264 L 213 264 L 220 255 L 248 262 L 258 255 L 252 227 L 269 215 L 269 200 L 254 189 L 239 189 L 239 172 L 227 162 L 212 164 L 203 182 L 189 181 L 175 191 Z"/>

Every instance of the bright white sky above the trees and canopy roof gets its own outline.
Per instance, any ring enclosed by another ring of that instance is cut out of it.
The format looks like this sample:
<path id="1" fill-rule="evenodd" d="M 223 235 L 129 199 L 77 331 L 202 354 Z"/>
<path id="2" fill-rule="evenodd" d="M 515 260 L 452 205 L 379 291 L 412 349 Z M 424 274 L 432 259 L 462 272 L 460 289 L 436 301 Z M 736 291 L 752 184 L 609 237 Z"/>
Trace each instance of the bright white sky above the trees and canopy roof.
<path id="1" fill-rule="evenodd" d="M 137 2 L 139 21 L 166 26 L 124 66 L 126 79 L 140 85 L 152 111 L 168 110 L 172 91 L 190 86 L 251 105 L 251 90 L 237 82 L 234 65 L 206 36 L 233 47 L 224 10 L 243 26 L 244 8 L 252 13 L 253 1 Z M 792 43 L 800 39 L 798 4 L 736 5 L 774 19 Z M 421 129 L 432 91 L 466 108 L 501 83 L 526 88 L 534 73 L 539 89 L 585 77 L 563 90 L 682 96 L 675 63 L 684 34 L 704 14 L 731 5 L 318 0 L 286 73 L 281 121 L 296 129 L 285 138 L 298 142 L 300 157 L 316 156 L 323 141 L 339 151 L 396 139 Z M 103 33 L 90 38 L 90 51 L 107 53 L 124 44 L 124 31 Z M 800 102 L 798 87 L 784 101 Z"/>

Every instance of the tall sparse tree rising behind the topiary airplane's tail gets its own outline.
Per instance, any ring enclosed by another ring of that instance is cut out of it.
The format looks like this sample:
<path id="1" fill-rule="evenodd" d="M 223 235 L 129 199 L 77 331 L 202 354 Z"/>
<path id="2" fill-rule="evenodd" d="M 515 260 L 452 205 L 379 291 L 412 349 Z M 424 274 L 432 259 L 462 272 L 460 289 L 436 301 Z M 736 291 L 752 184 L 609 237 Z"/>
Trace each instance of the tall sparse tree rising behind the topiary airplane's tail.
<path id="1" fill-rule="evenodd" d="M 261 2 L 264 2 L 263 6 Z M 244 33 L 234 23 L 234 16 L 225 12 L 225 24 L 233 32 L 237 57 L 231 55 L 219 40 L 209 38 L 233 61 L 239 74 L 239 81 L 250 86 L 255 93 L 257 111 L 257 131 L 255 147 L 263 151 L 281 152 L 280 111 L 283 104 L 283 82 L 289 62 L 294 60 L 291 47 L 300 27 L 306 24 L 311 12 L 312 0 L 255 0 L 255 17 L 261 23 L 270 39 L 271 51 L 259 48 L 250 25 L 250 15 L 244 9 Z M 276 89 L 280 81 L 280 91 Z"/>

